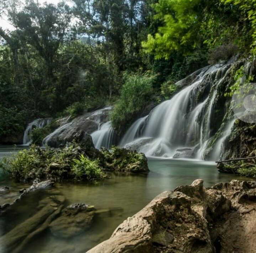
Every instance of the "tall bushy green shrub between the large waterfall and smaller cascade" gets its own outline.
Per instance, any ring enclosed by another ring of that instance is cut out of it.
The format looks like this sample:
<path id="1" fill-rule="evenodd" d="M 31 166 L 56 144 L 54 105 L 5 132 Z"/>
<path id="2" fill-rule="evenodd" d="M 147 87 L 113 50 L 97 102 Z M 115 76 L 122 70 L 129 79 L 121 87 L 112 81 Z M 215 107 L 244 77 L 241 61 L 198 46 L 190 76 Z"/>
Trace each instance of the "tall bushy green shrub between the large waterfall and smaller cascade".
<path id="1" fill-rule="evenodd" d="M 124 126 L 129 127 L 136 113 L 149 103 L 154 78 L 148 74 L 124 76 L 125 84 L 121 88 L 120 99 L 110 115 L 111 125 L 115 129 L 120 131 Z"/>

